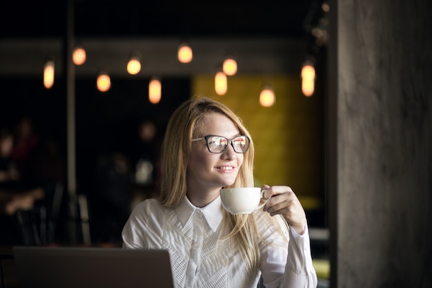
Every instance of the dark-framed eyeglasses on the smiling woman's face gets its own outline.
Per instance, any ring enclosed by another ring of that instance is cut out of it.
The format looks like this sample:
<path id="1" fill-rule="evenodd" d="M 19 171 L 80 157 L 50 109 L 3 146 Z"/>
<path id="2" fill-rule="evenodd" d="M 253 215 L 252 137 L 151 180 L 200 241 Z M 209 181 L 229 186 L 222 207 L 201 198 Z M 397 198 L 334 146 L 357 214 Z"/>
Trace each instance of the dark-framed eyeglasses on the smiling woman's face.
<path id="1" fill-rule="evenodd" d="M 194 142 L 199 140 L 206 140 L 206 145 L 210 153 L 222 153 L 225 151 L 228 144 L 233 146 L 235 153 L 246 153 L 249 144 L 251 144 L 251 140 L 246 135 L 237 136 L 232 139 L 217 135 L 207 135 L 190 141 Z"/>

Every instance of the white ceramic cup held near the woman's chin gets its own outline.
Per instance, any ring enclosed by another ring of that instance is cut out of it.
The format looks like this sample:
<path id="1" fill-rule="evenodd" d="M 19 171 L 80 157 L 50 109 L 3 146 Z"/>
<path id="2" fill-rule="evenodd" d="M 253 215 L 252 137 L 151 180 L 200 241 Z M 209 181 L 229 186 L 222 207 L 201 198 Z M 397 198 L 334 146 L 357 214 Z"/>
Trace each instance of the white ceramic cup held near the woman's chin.
<path id="1" fill-rule="evenodd" d="M 264 207 L 267 200 L 259 204 L 264 191 L 259 187 L 242 187 L 221 189 L 222 206 L 231 214 L 250 214 Z"/>

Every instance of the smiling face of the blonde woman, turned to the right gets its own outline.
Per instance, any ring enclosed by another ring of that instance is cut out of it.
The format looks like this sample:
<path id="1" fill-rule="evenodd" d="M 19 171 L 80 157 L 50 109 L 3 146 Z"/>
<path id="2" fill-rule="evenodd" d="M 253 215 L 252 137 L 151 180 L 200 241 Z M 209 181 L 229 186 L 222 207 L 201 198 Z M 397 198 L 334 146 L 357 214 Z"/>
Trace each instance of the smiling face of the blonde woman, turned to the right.
<path id="1" fill-rule="evenodd" d="M 200 129 L 202 135 L 219 135 L 228 139 L 239 136 L 239 130 L 225 115 L 212 113 L 206 117 Z M 210 153 L 206 140 L 192 142 L 192 150 L 188 161 L 188 189 L 203 191 L 221 189 L 234 183 L 244 154 L 235 153 L 230 144 L 222 153 Z"/>

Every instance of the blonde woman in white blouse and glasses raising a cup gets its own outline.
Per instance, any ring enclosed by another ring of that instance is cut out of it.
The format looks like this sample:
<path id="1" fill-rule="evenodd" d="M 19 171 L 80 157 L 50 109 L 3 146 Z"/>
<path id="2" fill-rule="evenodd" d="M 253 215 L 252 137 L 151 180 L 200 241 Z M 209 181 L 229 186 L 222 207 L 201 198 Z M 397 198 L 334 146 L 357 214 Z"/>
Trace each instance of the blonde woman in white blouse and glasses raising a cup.
<path id="1" fill-rule="evenodd" d="M 222 187 L 254 185 L 253 155 L 251 135 L 223 104 L 179 106 L 162 145 L 160 198 L 133 209 L 123 247 L 168 249 L 175 287 L 257 287 L 261 275 L 267 288 L 316 287 L 306 215 L 288 186 L 263 186 L 270 199 L 249 215 L 222 207 Z"/>

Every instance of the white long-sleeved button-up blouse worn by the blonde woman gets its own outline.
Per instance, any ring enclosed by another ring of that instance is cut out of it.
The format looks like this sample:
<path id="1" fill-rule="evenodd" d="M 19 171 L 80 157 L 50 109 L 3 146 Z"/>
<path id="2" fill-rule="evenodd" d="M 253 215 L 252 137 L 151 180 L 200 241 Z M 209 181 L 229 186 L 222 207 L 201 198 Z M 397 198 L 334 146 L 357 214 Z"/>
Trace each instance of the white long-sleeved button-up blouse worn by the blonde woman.
<path id="1" fill-rule="evenodd" d="M 167 209 L 157 200 L 144 200 L 133 209 L 122 231 L 123 247 L 166 249 L 170 252 L 175 287 L 257 287 L 260 274 L 249 277 L 239 250 L 220 240 L 220 197 L 204 208 L 185 197 L 179 207 Z M 267 288 L 317 287 L 308 229 L 302 236 L 289 229 L 289 245 L 277 229 L 255 211 L 264 241 L 259 242 L 259 270 Z"/>

